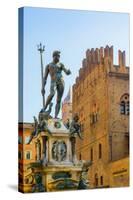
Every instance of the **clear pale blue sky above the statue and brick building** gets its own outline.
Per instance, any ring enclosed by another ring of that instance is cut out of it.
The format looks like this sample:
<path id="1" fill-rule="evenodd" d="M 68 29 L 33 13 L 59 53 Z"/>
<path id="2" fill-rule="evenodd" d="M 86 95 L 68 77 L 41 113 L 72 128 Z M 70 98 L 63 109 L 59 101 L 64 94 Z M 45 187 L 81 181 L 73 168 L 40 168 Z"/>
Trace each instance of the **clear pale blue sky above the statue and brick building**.
<path id="1" fill-rule="evenodd" d="M 113 12 L 79 11 L 47 8 L 24 8 L 24 60 L 23 60 L 23 121 L 33 122 L 42 108 L 41 65 L 37 51 L 39 43 L 45 45 L 44 68 L 52 61 L 52 52 L 61 51 L 61 62 L 72 72 L 63 74 L 65 91 L 75 82 L 87 49 L 114 46 L 114 63 L 118 64 L 118 49 L 126 51 L 129 65 L 129 14 Z M 46 97 L 50 78 L 47 80 Z M 56 96 L 53 100 L 55 105 Z M 52 115 L 54 113 L 54 106 Z M 61 111 L 59 114 L 61 117 Z"/>

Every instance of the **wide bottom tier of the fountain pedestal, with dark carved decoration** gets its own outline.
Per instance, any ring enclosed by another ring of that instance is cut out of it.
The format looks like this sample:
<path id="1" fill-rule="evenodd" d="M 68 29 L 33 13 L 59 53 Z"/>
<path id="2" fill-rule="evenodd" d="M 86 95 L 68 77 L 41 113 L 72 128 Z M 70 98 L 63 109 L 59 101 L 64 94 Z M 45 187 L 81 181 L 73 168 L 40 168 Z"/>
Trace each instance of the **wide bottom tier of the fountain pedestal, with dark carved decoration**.
<path id="1" fill-rule="evenodd" d="M 40 168 L 34 168 L 34 173 Z M 77 190 L 82 168 L 77 166 L 48 166 L 41 169 L 42 184 L 46 192 Z"/>

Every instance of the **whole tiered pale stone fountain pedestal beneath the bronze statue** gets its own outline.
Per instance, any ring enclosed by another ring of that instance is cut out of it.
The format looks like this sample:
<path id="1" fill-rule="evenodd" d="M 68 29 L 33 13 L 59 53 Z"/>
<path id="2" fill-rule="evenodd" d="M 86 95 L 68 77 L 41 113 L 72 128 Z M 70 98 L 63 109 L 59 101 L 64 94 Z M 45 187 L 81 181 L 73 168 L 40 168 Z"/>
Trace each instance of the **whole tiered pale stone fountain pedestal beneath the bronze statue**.
<path id="1" fill-rule="evenodd" d="M 45 191 L 77 189 L 82 163 L 76 155 L 73 159 L 69 130 L 60 119 L 49 119 L 47 126 L 51 134 L 43 131 L 33 140 L 38 147 L 38 165 L 32 163 L 32 171 L 42 177 Z"/>

